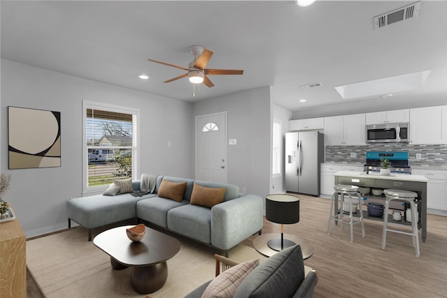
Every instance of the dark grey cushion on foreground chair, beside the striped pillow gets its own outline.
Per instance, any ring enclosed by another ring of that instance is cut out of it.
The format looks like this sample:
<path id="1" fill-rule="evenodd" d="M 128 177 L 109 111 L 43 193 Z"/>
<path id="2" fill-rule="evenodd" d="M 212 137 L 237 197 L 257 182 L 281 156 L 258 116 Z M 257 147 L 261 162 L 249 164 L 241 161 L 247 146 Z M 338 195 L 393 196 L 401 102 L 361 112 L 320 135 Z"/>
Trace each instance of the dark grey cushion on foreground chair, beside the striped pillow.
<path id="1" fill-rule="evenodd" d="M 244 278 L 237 297 L 293 297 L 305 279 L 305 267 L 298 245 L 272 255 Z"/>

